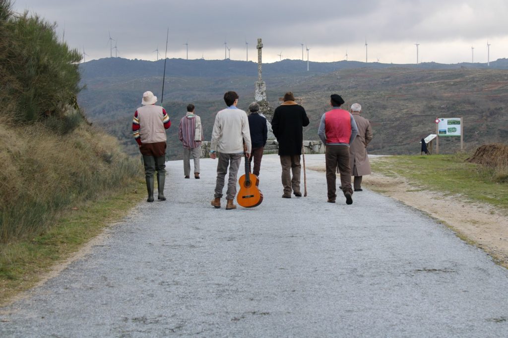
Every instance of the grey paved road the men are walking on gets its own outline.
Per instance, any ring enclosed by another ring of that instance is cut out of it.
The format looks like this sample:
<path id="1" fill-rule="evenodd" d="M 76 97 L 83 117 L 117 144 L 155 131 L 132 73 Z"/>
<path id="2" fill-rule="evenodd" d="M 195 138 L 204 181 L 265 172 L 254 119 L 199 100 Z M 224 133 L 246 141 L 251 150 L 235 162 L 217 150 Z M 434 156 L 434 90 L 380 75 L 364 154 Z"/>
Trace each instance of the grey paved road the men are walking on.
<path id="1" fill-rule="evenodd" d="M 215 166 L 169 162 L 168 201 L 1 309 L 0 336 L 508 336 L 508 272 L 421 212 L 369 191 L 326 203 L 309 170 L 309 196 L 282 199 L 277 156 L 263 204 L 214 209 Z"/>

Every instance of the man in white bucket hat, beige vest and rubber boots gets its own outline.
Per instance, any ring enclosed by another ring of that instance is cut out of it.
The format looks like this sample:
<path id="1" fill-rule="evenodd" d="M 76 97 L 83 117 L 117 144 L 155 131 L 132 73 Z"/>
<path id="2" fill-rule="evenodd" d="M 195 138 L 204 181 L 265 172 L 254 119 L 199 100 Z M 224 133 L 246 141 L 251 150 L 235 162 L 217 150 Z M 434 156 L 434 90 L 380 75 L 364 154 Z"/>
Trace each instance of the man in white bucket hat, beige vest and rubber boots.
<path id="1" fill-rule="evenodd" d="M 171 121 L 162 106 L 156 106 L 157 97 L 152 92 L 143 93 L 142 106 L 134 113 L 132 131 L 138 142 L 139 151 L 143 155 L 145 166 L 147 202 L 153 202 L 153 173 L 157 171 L 157 199 L 166 201 L 164 197 L 164 181 L 166 179 L 166 129 Z"/>

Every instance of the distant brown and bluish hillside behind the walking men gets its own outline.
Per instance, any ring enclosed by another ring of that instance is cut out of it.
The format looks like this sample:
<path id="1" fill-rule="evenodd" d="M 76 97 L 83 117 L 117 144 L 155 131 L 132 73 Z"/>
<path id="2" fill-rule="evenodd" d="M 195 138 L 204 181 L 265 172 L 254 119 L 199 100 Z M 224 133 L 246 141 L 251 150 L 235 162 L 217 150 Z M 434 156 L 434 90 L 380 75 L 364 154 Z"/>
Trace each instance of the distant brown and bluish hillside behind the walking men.
<path id="1" fill-rule="evenodd" d="M 508 60 L 491 67 L 508 67 Z M 471 67 L 475 66 L 477 68 Z M 130 154 L 138 154 L 131 136 L 131 119 L 141 95 L 151 90 L 161 99 L 164 61 L 101 59 L 81 65 L 87 87 L 78 101 L 86 115 L 117 136 Z M 304 68 L 302 71 L 301 69 Z M 285 91 L 303 98 L 311 120 L 306 139 L 317 139 L 319 118 L 328 108 L 329 95 L 339 93 L 346 104 L 359 102 L 371 120 L 374 154 L 414 154 L 421 138 L 435 132 L 436 117 L 464 117 L 466 147 L 504 141 L 508 136 L 506 96 L 508 70 L 485 69 L 483 64 L 388 65 L 341 61 L 310 63 L 283 60 L 263 65 L 268 100 L 273 106 Z M 173 126 L 168 132 L 169 157 L 180 158 L 177 126 L 185 105 L 193 102 L 202 116 L 205 138 L 210 137 L 215 113 L 223 108 L 222 95 L 235 90 L 240 108 L 253 100 L 256 64 L 245 61 L 168 59 L 164 106 Z M 160 101 L 159 101 L 160 102 Z M 447 143 L 450 143 L 449 145 Z M 459 148 L 459 140 L 442 140 L 441 152 Z"/>

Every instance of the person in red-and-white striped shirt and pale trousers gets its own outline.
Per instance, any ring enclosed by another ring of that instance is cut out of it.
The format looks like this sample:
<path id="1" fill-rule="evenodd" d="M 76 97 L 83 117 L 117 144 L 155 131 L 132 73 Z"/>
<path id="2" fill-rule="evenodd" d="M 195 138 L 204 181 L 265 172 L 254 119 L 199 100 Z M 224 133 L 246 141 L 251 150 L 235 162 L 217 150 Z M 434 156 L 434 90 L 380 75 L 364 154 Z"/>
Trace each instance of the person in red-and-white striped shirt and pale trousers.
<path id="1" fill-rule="evenodd" d="M 187 105 L 187 114 L 180 120 L 178 139 L 183 144 L 183 175 L 190 177 L 190 156 L 194 160 L 194 178 L 199 178 L 199 158 L 201 157 L 201 141 L 203 126 L 201 118 L 194 114 L 194 104 Z"/>

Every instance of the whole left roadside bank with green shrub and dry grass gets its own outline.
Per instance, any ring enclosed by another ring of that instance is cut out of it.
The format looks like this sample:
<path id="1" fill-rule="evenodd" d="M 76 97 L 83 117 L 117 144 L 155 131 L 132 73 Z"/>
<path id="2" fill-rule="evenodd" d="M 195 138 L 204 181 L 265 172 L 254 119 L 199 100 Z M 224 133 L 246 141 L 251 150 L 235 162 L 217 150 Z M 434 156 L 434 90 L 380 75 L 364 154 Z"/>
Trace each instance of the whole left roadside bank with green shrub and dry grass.
<path id="1" fill-rule="evenodd" d="M 11 244 L 31 250 L 71 206 L 124 191 L 141 169 L 76 104 L 81 54 L 54 28 L 0 0 L 0 289 L 15 279 Z"/>

